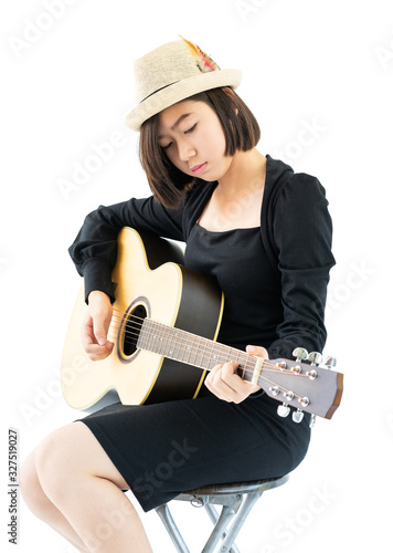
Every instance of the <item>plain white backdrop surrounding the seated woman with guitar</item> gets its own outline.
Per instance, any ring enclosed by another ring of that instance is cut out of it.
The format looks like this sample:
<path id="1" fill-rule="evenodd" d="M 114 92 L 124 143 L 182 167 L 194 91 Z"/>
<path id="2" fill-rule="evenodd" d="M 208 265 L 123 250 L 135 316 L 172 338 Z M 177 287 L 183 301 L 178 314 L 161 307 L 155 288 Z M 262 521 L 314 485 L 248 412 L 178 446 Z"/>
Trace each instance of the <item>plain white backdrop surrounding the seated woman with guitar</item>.
<path id="1" fill-rule="evenodd" d="M 334 221 L 325 353 L 346 375 L 342 406 L 318 421 L 306 460 L 259 500 L 237 545 L 245 553 L 387 551 L 392 2 L 20 0 L 0 10 L 1 547 L 14 551 L 7 543 L 7 428 L 19 429 L 23 460 L 78 415 L 59 392 L 79 288 L 66 249 L 99 204 L 149 192 L 137 135 L 123 123 L 134 105 L 132 62 L 182 34 L 221 67 L 243 71 L 237 92 L 261 123 L 258 148 L 316 175 Z M 76 166 L 88 166 L 92 145 L 113 133 L 111 158 L 65 194 L 62 179 L 72 181 Z M 21 498 L 19 511 L 17 551 L 73 551 Z M 182 503 L 174 513 L 191 551 L 201 551 L 205 513 Z M 153 550 L 173 551 L 156 513 L 142 520 Z"/>

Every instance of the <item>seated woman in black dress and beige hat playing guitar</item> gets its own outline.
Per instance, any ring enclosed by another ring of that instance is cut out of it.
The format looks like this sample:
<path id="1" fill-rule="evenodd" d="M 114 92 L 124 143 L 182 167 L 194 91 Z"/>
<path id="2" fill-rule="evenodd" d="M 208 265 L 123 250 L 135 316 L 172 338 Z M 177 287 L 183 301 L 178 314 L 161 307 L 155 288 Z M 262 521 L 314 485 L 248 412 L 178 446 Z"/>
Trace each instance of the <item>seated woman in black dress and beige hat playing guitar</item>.
<path id="1" fill-rule="evenodd" d="M 315 177 L 263 156 L 259 127 L 220 70 L 192 43 L 164 44 L 136 63 L 140 159 L 153 196 L 87 216 L 71 255 L 85 278 L 82 340 L 110 355 L 110 274 L 124 226 L 187 242 L 185 265 L 216 276 L 225 295 L 217 341 L 251 355 L 321 351 L 333 265 L 331 221 Z M 304 459 L 309 416 L 277 416 L 277 401 L 216 365 L 197 399 L 115 405 L 50 435 L 26 459 L 30 509 L 81 552 L 151 551 L 124 490 L 145 511 L 209 483 L 283 476 Z M 160 463 L 171 461 L 160 477 Z M 104 529 L 114 528 L 113 532 Z M 105 525 L 106 524 L 106 525 Z"/>

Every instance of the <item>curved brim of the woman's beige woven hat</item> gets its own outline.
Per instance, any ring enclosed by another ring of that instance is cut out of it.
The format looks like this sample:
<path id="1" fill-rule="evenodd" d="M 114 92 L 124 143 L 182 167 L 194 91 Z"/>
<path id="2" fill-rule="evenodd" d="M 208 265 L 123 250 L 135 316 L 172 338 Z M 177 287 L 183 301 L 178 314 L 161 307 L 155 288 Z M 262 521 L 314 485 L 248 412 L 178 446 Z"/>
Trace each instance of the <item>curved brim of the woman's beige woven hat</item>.
<path id="1" fill-rule="evenodd" d="M 238 70 L 211 71 L 183 79 L 156 92 L 134 107 L 126 114 L 125 123 L 132 131 L 140 131 L 145 121 L 162 112 L 162 109 L 211 88 L 220 88 L 221 86 L 236 88 L 240 85 L 242 73 Z"/>

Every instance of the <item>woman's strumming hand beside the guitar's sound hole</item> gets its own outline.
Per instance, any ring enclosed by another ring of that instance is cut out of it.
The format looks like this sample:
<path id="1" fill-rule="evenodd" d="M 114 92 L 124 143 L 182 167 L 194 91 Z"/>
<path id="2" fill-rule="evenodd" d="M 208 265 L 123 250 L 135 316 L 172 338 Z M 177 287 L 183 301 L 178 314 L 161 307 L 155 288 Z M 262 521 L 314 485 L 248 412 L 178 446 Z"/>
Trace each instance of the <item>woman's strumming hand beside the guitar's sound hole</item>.
<path id="1" fill-rule="evenodd" d="M 88 307 L 82 323 L 82 344 L 92 361 L 105 359 L 111 354 L 114 343 L 107 338 L 113 307 L 109 296 L 94 290 L 88 294 Z"/>

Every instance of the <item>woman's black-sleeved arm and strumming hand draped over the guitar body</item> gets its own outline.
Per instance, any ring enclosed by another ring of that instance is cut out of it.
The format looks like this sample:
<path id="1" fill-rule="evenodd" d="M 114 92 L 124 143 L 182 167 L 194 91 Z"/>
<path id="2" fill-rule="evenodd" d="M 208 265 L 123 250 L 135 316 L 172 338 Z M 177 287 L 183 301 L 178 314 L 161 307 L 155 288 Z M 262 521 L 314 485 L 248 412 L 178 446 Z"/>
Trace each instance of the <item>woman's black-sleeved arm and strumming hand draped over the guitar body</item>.
<path id="1" fill-rule="evenodd" d="M 118 232 L 127 226 L 166 238 L 183 239 L 181 211 L 166 209 L 153 198 L 102 206 L 86 217 L 68 251 L 85 280 L 88 306 L 81 334 L 92 361 L 106 358 L 114 347 L 107 338 L 111 302 L 115 301 L 111 271 L 116 263 Z"/>

